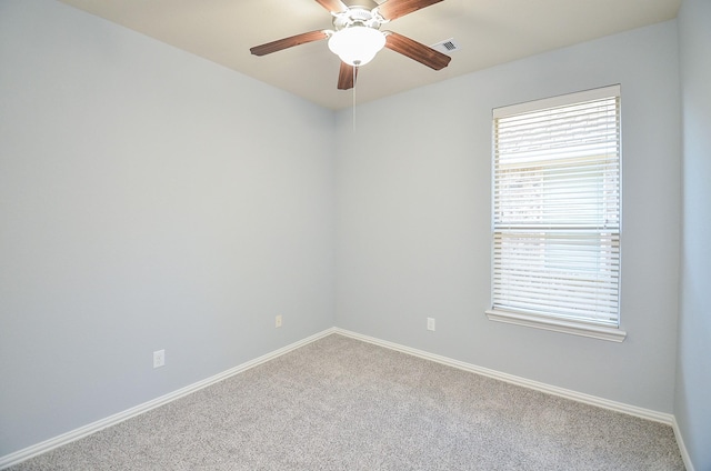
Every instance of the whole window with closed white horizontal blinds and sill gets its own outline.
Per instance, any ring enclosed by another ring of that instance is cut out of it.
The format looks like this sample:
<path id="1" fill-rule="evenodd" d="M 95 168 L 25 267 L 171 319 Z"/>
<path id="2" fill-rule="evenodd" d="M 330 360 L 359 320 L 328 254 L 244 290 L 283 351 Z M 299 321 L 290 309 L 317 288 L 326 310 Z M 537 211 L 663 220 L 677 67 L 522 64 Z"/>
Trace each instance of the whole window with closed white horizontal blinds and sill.
<path id="1" fill-rule="evenodd" d="M 490 319 L 622 341 L 620 88 L 493 110 Z"/>

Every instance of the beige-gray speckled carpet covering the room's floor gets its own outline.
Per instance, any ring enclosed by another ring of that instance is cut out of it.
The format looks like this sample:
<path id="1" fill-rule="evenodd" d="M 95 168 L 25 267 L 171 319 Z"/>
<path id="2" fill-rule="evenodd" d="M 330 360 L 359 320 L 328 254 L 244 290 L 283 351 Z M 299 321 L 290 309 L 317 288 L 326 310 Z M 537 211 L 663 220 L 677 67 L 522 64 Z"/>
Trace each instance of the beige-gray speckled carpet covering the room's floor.
<path id="1" fill-rule="evenodd" d="M 332 334 L 12 470 L 683 470 L 670 427 Z"/>

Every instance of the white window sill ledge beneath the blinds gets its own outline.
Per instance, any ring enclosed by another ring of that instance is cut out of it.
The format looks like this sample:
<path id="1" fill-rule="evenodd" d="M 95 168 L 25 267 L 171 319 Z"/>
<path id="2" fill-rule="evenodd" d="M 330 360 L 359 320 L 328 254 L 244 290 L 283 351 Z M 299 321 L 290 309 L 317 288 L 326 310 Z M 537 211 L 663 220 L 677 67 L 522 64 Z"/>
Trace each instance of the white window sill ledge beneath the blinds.
<path id="1" fill-rule="evenodd" d="M 589 337 L 592 339 L 608 340 L 610 342 L 622 342 L 627 338 L 627 332 L 620 329 L 559 319 L 543 319 L 529 314 L 495 310 L 488 310 L 487 317 L 490 321 L 532 327 L 535 329 L 551 330 L 553 332 L 563 332 L 573 335 Z"/>

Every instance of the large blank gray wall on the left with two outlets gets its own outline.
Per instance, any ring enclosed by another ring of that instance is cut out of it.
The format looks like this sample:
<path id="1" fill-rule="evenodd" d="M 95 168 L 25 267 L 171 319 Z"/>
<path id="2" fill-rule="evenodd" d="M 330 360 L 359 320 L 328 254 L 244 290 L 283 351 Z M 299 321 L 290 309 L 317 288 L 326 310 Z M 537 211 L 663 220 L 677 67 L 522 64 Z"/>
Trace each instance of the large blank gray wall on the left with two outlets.
<path id="1" fill-rule="evenodd" d="M 0 455 L 333 325 L 331 111 L 53 1 L 0 64 Z"/>

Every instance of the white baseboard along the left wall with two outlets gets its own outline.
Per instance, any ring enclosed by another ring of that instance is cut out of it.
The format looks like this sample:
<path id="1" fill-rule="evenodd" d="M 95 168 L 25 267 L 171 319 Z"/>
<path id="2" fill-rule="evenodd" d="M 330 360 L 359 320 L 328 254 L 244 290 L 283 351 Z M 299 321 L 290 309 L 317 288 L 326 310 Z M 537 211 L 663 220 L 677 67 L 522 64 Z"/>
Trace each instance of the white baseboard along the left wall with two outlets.
<path id="1" fill-rule="evenodd" d="M 250 368 L 254 368 L 261 363 L 264 363 L 269 360 L 273 360 L 277 357 L 281 357 L 284 353 L 288 353 L 292 350 L 296 350 L 300 347 L 306 345 L 307 343 L 314 342 L 326 335 L 329 335 L 334 332 L 334 329 L 327 329 L 322 332 L 316 333 L 311 337 L 308 337 L 298 342 L 291 343 L 287 347 L 283 347 L 279 350 L 274 350 L 273 352 L 267 353 L 262 357 L 256 358 L 254 360 L 248 361 L 234 368 L 231 368 L 227 371 L 218 373 L 213 377 L 204 379 L 202 381 L 198 381 L 197 383 L 187 385 L 177 391 L 168 393 L 166 395 L 161 395 L 160 398 L 153 399 L 151 401 L 139 404 L 134 408 L 127 409 L 122 412 L 116 413 L 113 415 L 107 417 L 104 419 L 98 420 L 96 422 L 89 423 L 87 425 L 80 427 L 79 429 L 71 430 L 67 433 L 62 433 L 61 435 L 54 437 L 52 439 L 46 440 L 43 442 L 33 444 L 31 447 L 24 448 L 22 450 L 16 451 L 10 454 L 6 454 L 4 457 L 0 457 L 0 470 L 11 467 L 13 464 L 18 464 L 22 461 L 29 460 L 30 458 L 37 457 L 39 454 L 46 453 L 50 450 L 53 450 L 58 447 L 62 447 L 72 441 L 82 439 L 87 435 L 98 432 L 99 430 L 106 429 L 111 425 L 116 425 L 117 423 L 123 422 L 124 420 L 131 419 L 132 417 L 142 414 L 144 412 L 150 411 L 151 409 L 159 408 L 164 405 L 176 399 L 180 399 L 184 395 L 193 393 L 200 389 L 207 388 L 211 384 L 214 384 L 219 381 L 222 381 L 227 378 L 230 378 L 234 374 L 241 373 L 243 371 L 249 370 Z"/>

